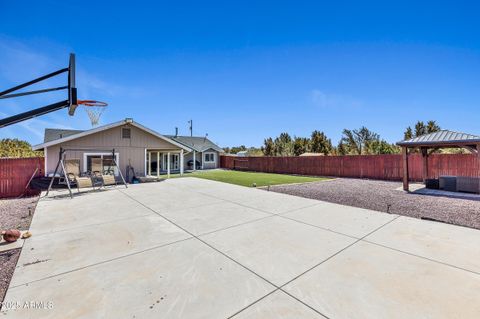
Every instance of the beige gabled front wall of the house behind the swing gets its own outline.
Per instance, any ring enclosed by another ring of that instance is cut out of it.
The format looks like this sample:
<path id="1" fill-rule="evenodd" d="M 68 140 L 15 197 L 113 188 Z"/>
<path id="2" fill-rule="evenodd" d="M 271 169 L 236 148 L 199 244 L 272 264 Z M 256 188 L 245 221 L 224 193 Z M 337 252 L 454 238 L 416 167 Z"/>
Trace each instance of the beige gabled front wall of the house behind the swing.
<path id="1" fill-rule="evenodd" d="M 130 139 L 122 138 L 122 128 L 131 129 Z M 180 148 L 170 144 L 148 132 L 145 132 L 135 126 L 126 123 L 123 126 L 114 127 L 109 130 L 101 131 L 95 134 L 87 135 L 62 144 L 47 148 L 46 172 L 47 174 L 55 171 L 58 162 L 58 154 L 62 148 L 86 148 L 86 151 L 68 151 L 67 159 L 80 159 L 80 168 L 83 172 L 84 153 L 92 153 L 93 150 L 111 150 L 115 149 L 119 153 L 119 167 L 122 174 L 126 175 L 127 165 L 133 166 L 138 176 L 145 173 L 145 149 L 158 149 L 172 152 L 180 152 Z"/>

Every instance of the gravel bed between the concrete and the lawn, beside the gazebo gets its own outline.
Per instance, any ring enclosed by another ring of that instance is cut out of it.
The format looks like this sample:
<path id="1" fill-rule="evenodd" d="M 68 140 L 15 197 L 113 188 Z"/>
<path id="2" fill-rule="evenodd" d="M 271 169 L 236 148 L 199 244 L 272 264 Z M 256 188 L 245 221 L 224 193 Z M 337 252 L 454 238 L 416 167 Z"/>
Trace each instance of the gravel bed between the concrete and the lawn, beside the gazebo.
<path id="1" fill-rule="evenodd" d="M 381 212 L 388 209 L 394 214 L 480 229 L 480 200 L 406 193 L 397 190 L 401 186 L 400 182 L 339 178 L 271 186 L 270 190 Z"/>

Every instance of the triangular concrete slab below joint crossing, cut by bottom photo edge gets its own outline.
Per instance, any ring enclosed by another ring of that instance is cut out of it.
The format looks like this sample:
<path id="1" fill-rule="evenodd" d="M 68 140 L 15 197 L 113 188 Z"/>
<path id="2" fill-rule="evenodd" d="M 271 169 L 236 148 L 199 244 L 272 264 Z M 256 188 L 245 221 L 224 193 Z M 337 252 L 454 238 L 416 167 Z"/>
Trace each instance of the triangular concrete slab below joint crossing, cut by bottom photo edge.
<path id="1" fill-rule="evenodd" d="M 325 319 L 324 316 L 278 290 L 234 316 L 235 319 Z"/>

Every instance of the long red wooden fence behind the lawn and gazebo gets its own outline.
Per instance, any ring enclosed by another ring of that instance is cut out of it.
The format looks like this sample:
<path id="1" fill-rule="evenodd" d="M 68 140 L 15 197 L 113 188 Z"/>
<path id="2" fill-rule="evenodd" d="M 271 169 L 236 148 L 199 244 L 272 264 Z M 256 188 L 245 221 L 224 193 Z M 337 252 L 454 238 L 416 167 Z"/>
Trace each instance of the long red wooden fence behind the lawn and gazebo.
<path id="1" fill-rule="evenodd" d="M 409 155 L 410 180 L 422 180 L 422 156 Z M 285 156 L 235 157 L 221 156 L 220 167 L 246 171 L 401 180 L 402 155 Z M 432 154 L 428 157 L 428 177 L 440 175 L 480 176 L 477 155 Z"/>

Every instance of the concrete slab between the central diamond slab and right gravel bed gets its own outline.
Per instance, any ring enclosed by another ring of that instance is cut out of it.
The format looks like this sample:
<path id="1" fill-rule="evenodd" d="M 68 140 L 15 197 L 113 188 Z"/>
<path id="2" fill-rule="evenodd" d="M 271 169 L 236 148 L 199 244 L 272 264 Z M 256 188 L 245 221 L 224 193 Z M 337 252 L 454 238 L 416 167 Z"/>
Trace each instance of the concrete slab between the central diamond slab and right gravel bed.
<path id="1" fill-rule="evenodd" d="M 285 213 L 282 216 L 356 238 L 367 235 L 397 217 L 397 215 L 320 201 L 317 201 L 315 206 Z"/>

